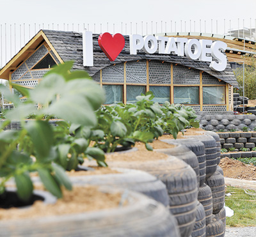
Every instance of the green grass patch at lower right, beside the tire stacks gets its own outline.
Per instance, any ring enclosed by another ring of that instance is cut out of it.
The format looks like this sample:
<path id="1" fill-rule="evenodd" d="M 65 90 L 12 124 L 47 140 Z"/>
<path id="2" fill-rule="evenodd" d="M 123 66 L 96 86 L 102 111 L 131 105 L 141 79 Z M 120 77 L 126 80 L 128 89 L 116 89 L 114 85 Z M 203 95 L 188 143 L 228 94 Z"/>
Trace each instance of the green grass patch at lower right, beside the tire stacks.
<path id="1" fill-rule="evenodd" d="M 234 211 L 232 217 L 227 217 L 227 227 L 256 226 L 256 192 L 241 188 L 227 187 L 225 205 Z"/>

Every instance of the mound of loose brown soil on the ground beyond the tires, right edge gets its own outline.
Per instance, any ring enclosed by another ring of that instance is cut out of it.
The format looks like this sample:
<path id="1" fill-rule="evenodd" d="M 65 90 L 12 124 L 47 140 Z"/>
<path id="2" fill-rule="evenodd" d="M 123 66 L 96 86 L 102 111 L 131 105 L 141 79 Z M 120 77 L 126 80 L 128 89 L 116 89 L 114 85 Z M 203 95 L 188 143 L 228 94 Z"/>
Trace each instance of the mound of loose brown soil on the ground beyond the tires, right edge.
<path id="1" fill-rule="evenodd" d="M 256 180 L 256 167 L 254 165 L 247 165 L 228 157 L 222 158 L 219 165 L 223 169 L 225 177 L 239 180 Z"/>

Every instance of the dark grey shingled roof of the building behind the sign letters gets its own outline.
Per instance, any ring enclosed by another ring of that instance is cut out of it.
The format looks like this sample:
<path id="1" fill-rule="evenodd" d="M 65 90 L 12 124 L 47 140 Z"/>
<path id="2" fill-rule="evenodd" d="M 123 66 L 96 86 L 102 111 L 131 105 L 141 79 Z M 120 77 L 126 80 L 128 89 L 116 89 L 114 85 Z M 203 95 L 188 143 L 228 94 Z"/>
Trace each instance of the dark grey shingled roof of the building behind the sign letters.
<path id="1" fill-rule="evenodd" d="M 99 72 L 100 69 L 115 63 L 124 63 L 126 61 L 137 61 L 142 59 L 154 59 L 165 61 L 169 63 L 177 63 L 179 65 L 188 66 L 197 70 L 202 70 L 209 75 L 223 80 L 228 84 L 238 88 L 238 83 L 234 72 L 227 63 L 227 68 L 223 72 L 215 72 L 209 68 L 209 62 L 193 61 L 187 57 L 173 56 L 172 54 L 145 54 L 142 50 L 137 55 L 130 55 L 129 49 L 129 36 L 125 35 L 125 47 L 122 52 L 116 57 L 114 62 L 109 61 L 108 57 L 104 54 L 99 47 L 98 38 L 99 34 L 93 34 L 93 63 L 94 66 L 83 66 L 83 36 L 82 33 L 70 31 L 52 31 L 43 30 L 45 36 L 49 39 L 54 49 L 58 52 L 63 61 L 74 60 L 74 70 L 86 70 L 89 75 L 93 76 Z"/>

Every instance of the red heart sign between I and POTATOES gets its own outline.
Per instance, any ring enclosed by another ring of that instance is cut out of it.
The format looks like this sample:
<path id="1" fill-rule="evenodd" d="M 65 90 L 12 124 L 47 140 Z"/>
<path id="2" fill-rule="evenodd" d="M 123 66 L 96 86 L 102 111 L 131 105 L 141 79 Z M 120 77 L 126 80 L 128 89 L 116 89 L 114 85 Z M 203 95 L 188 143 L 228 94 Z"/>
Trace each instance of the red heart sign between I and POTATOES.
<path id="1" fill-rule="evenodd" d="M 124 49 L 125 40 L 122 34 L 100 34 L 98 43 L 102 51 L 106 54 L 110 61 L 115 61 L 116 57 Z"/>

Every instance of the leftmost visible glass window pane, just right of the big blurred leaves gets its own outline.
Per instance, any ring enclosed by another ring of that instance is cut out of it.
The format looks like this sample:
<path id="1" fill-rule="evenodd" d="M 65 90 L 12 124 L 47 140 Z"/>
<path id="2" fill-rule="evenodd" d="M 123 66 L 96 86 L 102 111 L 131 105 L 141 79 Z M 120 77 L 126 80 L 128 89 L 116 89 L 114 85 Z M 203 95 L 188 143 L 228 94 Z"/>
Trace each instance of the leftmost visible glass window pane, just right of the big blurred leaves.
<path id="1" fill-rule="evenodd" d="M 123 86 L 120 85 L 102 85 L 106 93 L 105 104 L 123 102 Z"/>

